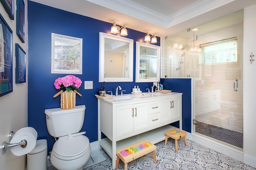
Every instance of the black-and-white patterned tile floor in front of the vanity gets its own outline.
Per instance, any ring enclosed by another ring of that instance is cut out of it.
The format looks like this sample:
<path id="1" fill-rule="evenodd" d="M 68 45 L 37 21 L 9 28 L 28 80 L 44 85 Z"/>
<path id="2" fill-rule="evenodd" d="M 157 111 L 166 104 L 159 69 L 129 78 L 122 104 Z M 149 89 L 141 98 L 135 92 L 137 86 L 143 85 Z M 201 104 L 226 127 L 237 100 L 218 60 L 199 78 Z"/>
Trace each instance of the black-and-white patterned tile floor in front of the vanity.
<path id="1" fill-rule="evenodd" d="M 174 140 L 169 138 L 167 145 L 164 141 L 156 144 L 157 163 L 153 161 L 152 153 L 128 163 L 128 170 L 256 170 L 236 159 L 204 147 L 188 140 L 178 140 L 178 152 L 175 151 Z M 84 170 L 111 170 L 112 163 L 108 154 L 101 149 L 106 160 Z M 116 170 L 123 170 L 124 163 L 120 160 Z M 56 170 L 49 166 L 48 170 Z"/>

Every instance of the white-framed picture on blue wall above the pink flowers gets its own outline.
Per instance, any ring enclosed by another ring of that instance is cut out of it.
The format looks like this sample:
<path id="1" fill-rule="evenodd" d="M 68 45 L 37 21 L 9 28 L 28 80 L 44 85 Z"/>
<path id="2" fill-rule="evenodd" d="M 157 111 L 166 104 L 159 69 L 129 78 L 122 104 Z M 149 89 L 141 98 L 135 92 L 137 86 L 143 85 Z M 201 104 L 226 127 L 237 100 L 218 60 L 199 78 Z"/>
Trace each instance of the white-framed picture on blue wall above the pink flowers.
<path id="1" fill-rule="evenodd" d="M 52 74 L 82 74 L 82 38 L 52 33 Z"/>

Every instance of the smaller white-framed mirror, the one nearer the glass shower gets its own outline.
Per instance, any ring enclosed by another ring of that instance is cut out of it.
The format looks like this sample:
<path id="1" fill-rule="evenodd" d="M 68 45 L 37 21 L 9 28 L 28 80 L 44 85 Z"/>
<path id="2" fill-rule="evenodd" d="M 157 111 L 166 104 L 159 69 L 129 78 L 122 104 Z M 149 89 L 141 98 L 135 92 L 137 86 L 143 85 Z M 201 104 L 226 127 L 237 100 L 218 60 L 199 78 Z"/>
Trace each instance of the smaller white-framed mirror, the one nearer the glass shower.
<path id="1" fill-rule="evenodd" d="M 160 81 L 160 46 L 136 42 L 136 82 Z"/>

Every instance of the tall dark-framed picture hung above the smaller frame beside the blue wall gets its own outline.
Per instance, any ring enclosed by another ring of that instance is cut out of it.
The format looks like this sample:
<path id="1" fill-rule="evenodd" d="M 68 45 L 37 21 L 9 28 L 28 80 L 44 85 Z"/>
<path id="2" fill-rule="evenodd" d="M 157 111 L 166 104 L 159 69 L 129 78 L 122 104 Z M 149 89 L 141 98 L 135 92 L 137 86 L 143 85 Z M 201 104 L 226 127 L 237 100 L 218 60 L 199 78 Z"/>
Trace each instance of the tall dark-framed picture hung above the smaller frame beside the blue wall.
<path id="1" fill-rule="evenodd" d="M 16 34 L 25 42 L 25 4 L 23 0 L 16 1 Z"/>

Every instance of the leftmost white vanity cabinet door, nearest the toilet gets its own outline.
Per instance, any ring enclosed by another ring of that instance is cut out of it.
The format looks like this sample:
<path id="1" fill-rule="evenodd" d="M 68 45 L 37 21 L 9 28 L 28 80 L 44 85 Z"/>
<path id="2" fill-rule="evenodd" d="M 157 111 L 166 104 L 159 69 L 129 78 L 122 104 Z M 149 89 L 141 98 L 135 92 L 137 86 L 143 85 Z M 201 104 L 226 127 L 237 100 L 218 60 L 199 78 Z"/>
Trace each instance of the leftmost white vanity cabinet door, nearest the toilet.
<path id="1" fill-rule="evenodd" d="M 116 137 L 133 132 L 134 108 L 132 105 L 116 107 Z"/>

